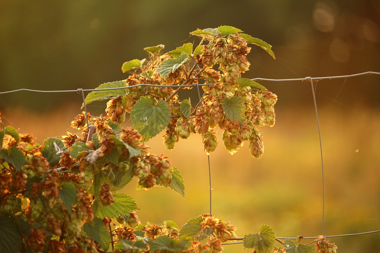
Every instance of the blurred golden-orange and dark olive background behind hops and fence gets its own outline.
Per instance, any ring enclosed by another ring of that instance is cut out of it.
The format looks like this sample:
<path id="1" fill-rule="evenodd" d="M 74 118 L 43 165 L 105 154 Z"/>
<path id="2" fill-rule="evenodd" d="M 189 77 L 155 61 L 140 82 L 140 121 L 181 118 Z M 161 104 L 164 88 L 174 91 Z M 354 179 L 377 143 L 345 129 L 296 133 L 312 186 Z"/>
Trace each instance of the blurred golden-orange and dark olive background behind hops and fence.
<path id="1" fill-rule="evenodd" d="M 275 60 L 252 46 L 247 78 L 380 71 L 378 0 L 0 0 L 0 92 L 93 89 L 126 79 L 122 63 L 147 57 L 144 47 L 165 44 L 164 50 L 171 51 L 198 42 L 188 34 L 196 28 L 219 25 L 240 28 L 273 46 Z M 380 229 L 379 81 L 380 76 L 367 75 L 316 82 L 326 236 Z M 263 223 L 278 237 L 317 237 L 322 233 L 322 177 L 310 83 L 260 83 L 279 97 L 276 124 L 261 129 L 261 159 L 250 156 L 247 143 L 231 156 L 220 139 L 210 156 L 213 215 L 231 221 L 241 237 L 258 232 Z M 181 98 L 189 95 L 195 102 L 197 94 L 180 93 Z M 72 131 L 70 122 L 81 113 L 81 104 L 76 92 L 0 94 L 3 122 L 33 133 L 38 143 Z M 94 115 L 104 113 L 105 101 L 88 108 Z M 198 135 L 180 140 L 172 151 L 163 147 L 162 135 L 148 145 L 180 170 L 185 199 L 168 188 L 136 191 L 136 181 L 123 191 L 136 200 L 143 223 L 174 220 L 181 226 L 209 212 L 207 155 Z M 380 234 L 330 241 L 339 252 L 377 252 Z M 242 245 L 226 245 L 225 251 L 252 252 Z"/>

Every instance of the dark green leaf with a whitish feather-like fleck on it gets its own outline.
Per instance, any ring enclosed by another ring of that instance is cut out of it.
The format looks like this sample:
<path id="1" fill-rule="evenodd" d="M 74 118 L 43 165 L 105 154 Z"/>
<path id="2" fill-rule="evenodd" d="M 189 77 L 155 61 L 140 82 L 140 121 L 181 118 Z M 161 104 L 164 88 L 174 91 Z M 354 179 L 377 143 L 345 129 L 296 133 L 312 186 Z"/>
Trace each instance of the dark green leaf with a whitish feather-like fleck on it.
<path id="1" fill-rule="evenodd" d="M 60 139 L 47 138 L 42 144 L 42 155 L 54 166 L 61 159 L 62 153 L 68 150 Z"/>

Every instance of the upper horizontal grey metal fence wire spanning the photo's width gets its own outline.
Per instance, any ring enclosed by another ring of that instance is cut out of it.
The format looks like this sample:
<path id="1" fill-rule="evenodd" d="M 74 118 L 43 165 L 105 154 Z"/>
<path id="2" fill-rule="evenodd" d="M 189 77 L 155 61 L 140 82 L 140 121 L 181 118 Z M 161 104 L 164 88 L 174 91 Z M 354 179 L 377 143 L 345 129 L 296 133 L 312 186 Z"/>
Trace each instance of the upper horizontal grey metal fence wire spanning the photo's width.
<path id="1" fill-rule="evenodd" d="M 374 72 L 374 71 L 367 71 L 363 73 L 358 73 L 358 74 L 351 74 L 351 75 L 345 75 L 345 76 L 322 76 L 322 77 L 305 77 L 305 78 L 290 78 L 290 79 L 268 79 L 268 78 L 253 78 L 250 79 L 252 81 L 306 81 L 310 80 L 321 80 L 321 79 L 335 79 L 335 78 L 346 78 L 346 77 L 353 77 L 353 76 L 362 76 L 366 74 L 380 74 L 380 72 Z M 196 84 L 198 86 L 206 86 L 206 85 L 211 85 L 211 84 Z M 126 86 L 126 87 L 117 87 L 117 88 L 104 88 L 104 89 L 83 89 L 84 92 L 92 92 L 92 91 L 100 91 L 100 90 L 121 90 L 121 89 L 130 89 L 133 87 L 139 87 L 139 86 L 150 86 L 150 87 L 192 87 L 194 84 L 185 84 L 185 85 L 155 85 L 155 84 L 136 84 L 136 85 L 131 85 L 131 86 Z M 0 92 L 0 94 L 6 94 L 6 93 L 12 93 L 12 92 L 19 92 L 19 91 L 30 91 L 30 92 L 78 92 L 80 89 L 77 90 L 31 90 L 31 89 L 18 89 L 18 90 L 10 90 L 6 92 Z"/>

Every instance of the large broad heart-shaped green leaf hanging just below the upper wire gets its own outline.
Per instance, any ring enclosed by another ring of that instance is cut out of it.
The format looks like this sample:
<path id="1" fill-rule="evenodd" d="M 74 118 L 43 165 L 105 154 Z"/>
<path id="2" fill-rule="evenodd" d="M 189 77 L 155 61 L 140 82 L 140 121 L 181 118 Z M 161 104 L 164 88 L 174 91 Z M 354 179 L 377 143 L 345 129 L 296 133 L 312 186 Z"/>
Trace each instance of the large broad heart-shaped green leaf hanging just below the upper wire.
<path id="1" fill-rule="evenodd" d="M 133 128 L 142 135 L 142 142 L 160 133 L 170 122 L 171 111 L 164 100 L 157 105 L 149 96 L 142 96 L 131 109 Z"/>

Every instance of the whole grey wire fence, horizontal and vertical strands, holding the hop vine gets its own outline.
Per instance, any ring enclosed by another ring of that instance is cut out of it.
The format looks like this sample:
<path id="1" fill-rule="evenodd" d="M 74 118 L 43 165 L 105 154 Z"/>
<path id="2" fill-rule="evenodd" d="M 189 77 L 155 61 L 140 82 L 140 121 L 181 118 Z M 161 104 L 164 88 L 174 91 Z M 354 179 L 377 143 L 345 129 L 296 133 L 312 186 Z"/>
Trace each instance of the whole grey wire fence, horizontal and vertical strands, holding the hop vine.
<path id="1" fill-rule="evenodd" d="M 319 120 L 318 120 L 318 111 L 317 111 L 317 103 L 315 99 L 315 92 L 314 92 L 314 85 L 313 85 L 313 80 L 321 80 L 321 79 L 336 79 L 336 78 L 347 78 L 347 77 L 353 77 L 353 76 L 361 76 L 361 75 L 366 75 L 366 74 L 375 74 L 375 75 L 380 75 L 380 72 L 374 72 L 374 71 L 367 71 L 363 73 L 358 73 L 358 74 L 351 74 L 351 75 L 344 75 L 344 76 L 324 76 L 324 77 L 306 77 L 306 78 L 290 78 L 290 79 L 268 79 L 268 78 L 253 78 L 250 79 L 252 81 L 310 81 L 311 87 L 312 87 L 312 93 L 313 93 L 313 100 L 314 100 L 314 106 L 315 106 L 315 114 L 317 117 L 317 124 L 318 124 L 318 134 L 319 134 L 319 139 L 320 139 L 320 149 L 321 149 L 321 165 L 322 165 L 322 194 L 323 194 L 323 217 L 322 217 L 322 235 L 324 236 L 325 234 L 325 186 L 324 186 L 324 176 L 323 176 L 323 156 L 322 156 L 322 142 L 321 142 L 321 132 L 320 132 L 320 126 L 319 126 Z M 101 90 L 120 90 L 120 89 L 130 89 L 133 87 L 139 87 L 139 86 L 150 86 L 150 87 L 196 87 L 198 90 L 198 95 L 199 95 L 199 100 L 200 100 L 200 93 L 199 93 L 199 87 L 198 86 L 207 86 L 211 84 L 186 84 L 186 85 L 155 85 L 155 84 L 137 84 L 137 85 L 131 85 L 131 86 L 126 86 L 126 87 L 117 87 L 117 88 L 105 88 L 105 89 L 77 89 L 77 90 L 32 90 L 32 89 L 18 89 L 18 90 L 11 90 L 7 92 L 0 92 L 0 94 L 6 94 L 6 93 L 13 93 L 13 92 L 20 92 L 20 91 L 30 91 L 30 92 L 44 92 L 44 93 L 50 93 L 50 92 L 78 92 L 79 94 L 82 95 L 83 99 L 83 105 L 84 105 L 84 110 L 86 112 L 86 120 L 87 120 L 87 126 L 89 125 L 88 118 L 87 118 L 87 108 L 86 108 L 86 103 L 85 103 L 85 98 L 84 98 L 84 92 L 93 92 L 93 91 L 101 91 Z M 211 215 L 211 168 L 210 168 L 210 157 L 209 155 L 207 156 L 208 162 L 209 162 L 209 187 L 210 187 L 210 215 Z M 344 237 L 344 236 L 357 236 L 357 235 L 363 235 L 363 234 L 372 234 L 372 233 L 377 233 L 380 232 L 380 230 L 376 231 L 370 231 L 370 232 L 363 232 L 363 233 L 356 233 L 356 234 L 342 234 L 342 235 L 335 235 L 335 236 L 325 236 L 326 238 L 328 237 Z M 297 239 L 295 237 L 276 237 L 277 239 Z M 303 237 L 303 239 L 315 239 L 315 237 Z M 234 238 L 235 240 L 242 240 L 243 238 Z M 228 244 L 241 244 L 243 242 L 231 242 L 231 243 L 225 243 L 222 245 L 228 245 Z"/>

